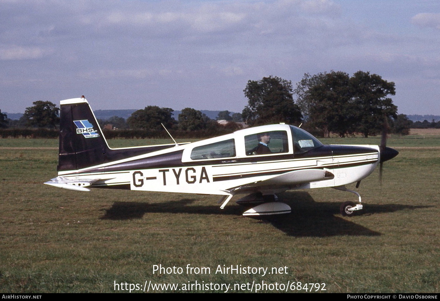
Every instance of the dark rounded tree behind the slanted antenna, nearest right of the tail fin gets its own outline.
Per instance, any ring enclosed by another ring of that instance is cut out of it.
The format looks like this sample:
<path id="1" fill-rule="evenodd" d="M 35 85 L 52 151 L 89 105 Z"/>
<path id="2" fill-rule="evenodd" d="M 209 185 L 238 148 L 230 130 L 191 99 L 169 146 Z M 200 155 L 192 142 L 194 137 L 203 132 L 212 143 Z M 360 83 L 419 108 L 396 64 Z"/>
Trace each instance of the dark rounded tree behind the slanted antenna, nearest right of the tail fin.
<path id="1" fill-rule="evenodd" d="M 144 128 L 150 130 L 161 130 L 162 125 L 171 128 L 175 123 L 171 116 L 173 110 L 170 108 L 160 108 L 158 106 L 146 106 L 144 109 L 137 110 L 127 118 L 130 128 Z"/>

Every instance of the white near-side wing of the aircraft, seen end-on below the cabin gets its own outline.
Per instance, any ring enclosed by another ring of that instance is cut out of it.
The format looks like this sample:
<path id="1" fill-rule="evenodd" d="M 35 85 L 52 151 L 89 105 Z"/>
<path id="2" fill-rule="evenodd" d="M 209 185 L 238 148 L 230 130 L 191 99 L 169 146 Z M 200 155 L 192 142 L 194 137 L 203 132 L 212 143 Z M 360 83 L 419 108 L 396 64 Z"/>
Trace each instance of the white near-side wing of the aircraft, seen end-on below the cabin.
<path id="1" fill-rule="evenodd" d="M 266 180 L 248 183 L 238 187 L 232 187 L 228 191 L 257 190 L 261 187 L 294 187 L 315 181 L 330 180 L 334 174 L 325 169 L 300 169 L 280 175 L 272 176 Z"/>

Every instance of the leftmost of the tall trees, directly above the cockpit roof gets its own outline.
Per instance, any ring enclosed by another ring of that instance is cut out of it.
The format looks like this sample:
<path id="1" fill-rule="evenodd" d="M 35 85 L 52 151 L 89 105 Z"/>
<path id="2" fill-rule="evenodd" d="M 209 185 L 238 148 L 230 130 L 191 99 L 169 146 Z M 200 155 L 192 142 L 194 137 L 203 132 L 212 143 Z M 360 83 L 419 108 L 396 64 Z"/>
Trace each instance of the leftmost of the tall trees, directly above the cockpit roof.
<path id="1" fill-rule="evenodd" d="M 248 81 L 243 92 L 249 101 L 242 118 L 249 125 L 295 124 L 302 119 L 299 107 L 293 102 L 291 81 L 280 77 L 263 77 L 259 81 Z"/>

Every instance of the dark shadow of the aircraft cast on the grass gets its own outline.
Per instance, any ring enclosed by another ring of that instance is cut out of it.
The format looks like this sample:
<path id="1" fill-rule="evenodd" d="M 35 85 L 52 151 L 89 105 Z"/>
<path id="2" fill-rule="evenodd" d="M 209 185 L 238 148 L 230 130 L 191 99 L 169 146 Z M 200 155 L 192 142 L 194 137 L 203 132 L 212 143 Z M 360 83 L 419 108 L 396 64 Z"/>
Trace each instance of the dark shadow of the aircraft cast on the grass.
<path id="1" fill-rule="evenodd" d="M 279 196 L 292 208 L 289 214 L 271 216 L 259 222 L 272 224 L 275 228 L 290 236 L 326 237 L 334 235 L 376 236 L 377 231 L 356 224 L 356 216 L 343 218 L 339 214 L 340 202 L 315 202 L 305 191 L 285 192 Z M 240 215 L 243 206 L 228 206 L 223 210 L 217 206 L 187 206 L 196 201 L 184 198 L 160 203 L 114 202 L 110 209 L 104 209 L 101 219 L 129 220 L 142 218 L 146 213 L 190 213 L 190 214 L 222 214 Z M 404 209 L 419 209 L 429 206 L 411 205 L 366 205 L 362 215 L 392 213 Z"/>

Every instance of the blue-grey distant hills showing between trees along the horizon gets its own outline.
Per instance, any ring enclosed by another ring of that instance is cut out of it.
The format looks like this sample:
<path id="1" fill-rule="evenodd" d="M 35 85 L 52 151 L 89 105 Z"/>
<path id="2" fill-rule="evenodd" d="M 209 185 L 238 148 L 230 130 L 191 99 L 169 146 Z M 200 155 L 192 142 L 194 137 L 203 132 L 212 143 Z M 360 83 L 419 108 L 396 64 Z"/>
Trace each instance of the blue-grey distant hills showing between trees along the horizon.
<path id="1" fill-rule="evenodd" d="M 130 117 L 130 115 L 136 111 L 135 109 L 132 110 L 95 110 L 93 111 L 95 113 L 96 118 L 98 119 L 109 119 L 110 117 L 113 116 L 117 116 L 117 117 L 122 117 L 127 119 L 128 117 Z M 210 111 L 210 110 L 200 110 L 203 114 L 205 114 L 206 116 L 208 116 L 211 119 L 216 119 L 216 117 L 218 116 L 220 111 Z M 173 112 L 173 117 L 174 119 L 177 120 L 177 118 L 179 117 L 179 114 L 182 111 L 174 111 Z M 12 120 L 18 120 L 20 119 L 20 117 L 22 117 L 22 113 L 7 113 L 7 117 L 12 119 Z M 231 112 L 231 116 L 232 114 L 234 114 L 234 112 Z M 434 122 L 438 122 L 440 121 L 440 116 L 438 115 L 407 115 L 407 117 L 412 120 L 412 121 L 424 121 L 427 120 L 429 122 L 433 121 Z"/>

